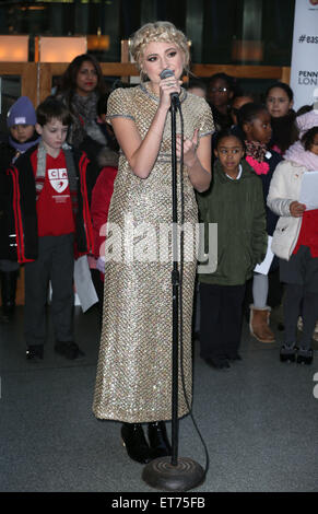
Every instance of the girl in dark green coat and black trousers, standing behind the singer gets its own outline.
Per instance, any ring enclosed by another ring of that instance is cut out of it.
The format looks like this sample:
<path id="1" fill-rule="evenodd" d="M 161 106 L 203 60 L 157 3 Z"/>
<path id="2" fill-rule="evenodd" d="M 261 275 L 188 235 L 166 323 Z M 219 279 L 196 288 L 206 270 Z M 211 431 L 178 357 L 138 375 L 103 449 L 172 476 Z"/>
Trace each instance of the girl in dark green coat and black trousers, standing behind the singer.
<path id="1" fill-rule="evenodd" d="M 231 129 L 215 141 L 212 186 L 198 196 L 201 221 L 217 223 L 217 267 L 200 273 L 201 357 L 216 369 L 240 359 L 238 347 L 246 281 L 266 256 L 262 184 L 243 159 L 245 144 Z M 208 241 L 205 241 L 205 250 Z"/>

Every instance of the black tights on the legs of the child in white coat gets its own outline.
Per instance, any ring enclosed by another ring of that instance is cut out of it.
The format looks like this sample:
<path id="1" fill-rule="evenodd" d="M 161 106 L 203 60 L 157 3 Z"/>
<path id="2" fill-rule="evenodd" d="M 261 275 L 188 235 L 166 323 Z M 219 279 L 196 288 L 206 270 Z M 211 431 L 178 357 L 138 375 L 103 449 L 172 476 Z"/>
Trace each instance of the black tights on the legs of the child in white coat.
<path id="1" fill-rule="evenodd" d="M 295 346 L 297 320 L 302 314 L 303 334 L 299 347 L 309 349 L 318 319 L 318 293 L 304 290 L 304 285 L 287 283 L 284 299 L 285 344 Z"/>

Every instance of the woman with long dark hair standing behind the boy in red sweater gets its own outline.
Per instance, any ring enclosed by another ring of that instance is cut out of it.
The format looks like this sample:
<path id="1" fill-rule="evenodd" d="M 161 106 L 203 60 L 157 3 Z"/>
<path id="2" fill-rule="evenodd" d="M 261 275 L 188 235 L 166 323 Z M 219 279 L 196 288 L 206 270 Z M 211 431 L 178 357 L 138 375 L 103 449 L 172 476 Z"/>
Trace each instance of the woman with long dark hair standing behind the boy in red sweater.
<path id="1" fill-rule="evenodd" d="M 57 97 L 70 109 L 72 125 L 68 142 L 79 148 L 89 136 L 106 144 L 97 122 L 97 102 L 105 93 L 105 83 L 98 61 L 90 54 L 75 57 L 69 65 L 57 91 Z"/>

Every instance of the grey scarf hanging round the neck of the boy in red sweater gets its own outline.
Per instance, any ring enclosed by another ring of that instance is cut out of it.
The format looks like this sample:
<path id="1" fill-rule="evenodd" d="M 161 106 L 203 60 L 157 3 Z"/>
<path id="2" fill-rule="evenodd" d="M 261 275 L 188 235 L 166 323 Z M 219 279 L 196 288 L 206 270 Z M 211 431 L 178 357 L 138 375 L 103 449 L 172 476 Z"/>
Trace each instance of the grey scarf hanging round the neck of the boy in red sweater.
<path id="1" fill-rule="evenodd" d="M 68 144 L 62 145 L 62 151 L 66 156 L 67 161 L 67 171 L 68 171 L 68 178 L 69 178 L 69 188 L 71 194 L 71 202 L 72 202 L 72 211 L 76 214 L 79 207 L 78 207 L 78 176 L 75 171 L 74 159 L 71 152 L 71 149 Z M 35 190 L 36 190 L 36 200 L 38 199 L 45 183 L 46 176 L 46 148 L 40 141 L 38 149 L 37 149 L 37 167 L 36 167 L 36 176 L 35 176 Z"/>

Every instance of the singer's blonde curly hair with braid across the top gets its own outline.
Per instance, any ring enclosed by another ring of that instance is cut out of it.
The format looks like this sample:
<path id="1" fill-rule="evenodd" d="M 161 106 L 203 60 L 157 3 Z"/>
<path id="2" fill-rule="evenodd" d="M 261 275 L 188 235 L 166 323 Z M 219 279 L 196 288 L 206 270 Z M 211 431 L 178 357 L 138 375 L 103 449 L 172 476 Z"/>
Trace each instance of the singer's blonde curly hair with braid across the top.
<path id="1" fill-rule="evenodd" d="M 170 22 L 146 23 L 139 28 L 130 39 L 130 54 L 136 60 L 139 70 L 141 70 L 141 60 L 149 43 L 163 42 L 175 43 L 184 54 L 185 70 L 189 71 L 190 52 L 189 45 L 185 34 Z"/>

